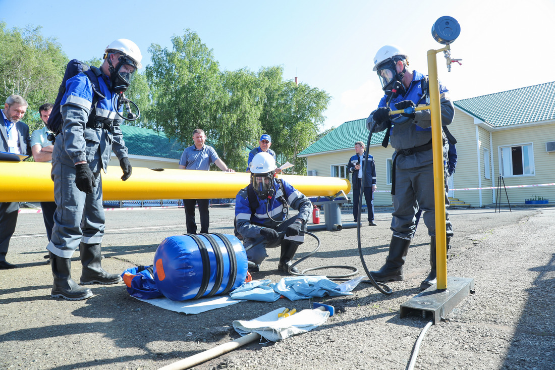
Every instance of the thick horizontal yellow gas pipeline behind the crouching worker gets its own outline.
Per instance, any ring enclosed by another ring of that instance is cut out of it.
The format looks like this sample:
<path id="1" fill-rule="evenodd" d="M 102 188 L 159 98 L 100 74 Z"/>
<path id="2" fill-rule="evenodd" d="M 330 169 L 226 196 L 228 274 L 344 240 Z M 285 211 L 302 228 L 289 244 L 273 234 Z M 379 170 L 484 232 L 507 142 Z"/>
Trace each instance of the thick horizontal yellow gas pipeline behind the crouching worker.
<path id="1" fill-rule="evenodd" d="M 0 202 L 54 201 L 54 183 L 50 163 L 0 162 Z M 103 199 L 128 201 L 141 199 L 235 198 L 250 182 L 250 174 L 220 171 L 194 171 L 134 167 L 127 181 L 122 169 L 109 166 L 102 173 Z M 331 197 L 340 191 L 349 193 L 349 180 L 336 177 L 280 175 L 307 197 Z"/>

